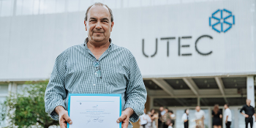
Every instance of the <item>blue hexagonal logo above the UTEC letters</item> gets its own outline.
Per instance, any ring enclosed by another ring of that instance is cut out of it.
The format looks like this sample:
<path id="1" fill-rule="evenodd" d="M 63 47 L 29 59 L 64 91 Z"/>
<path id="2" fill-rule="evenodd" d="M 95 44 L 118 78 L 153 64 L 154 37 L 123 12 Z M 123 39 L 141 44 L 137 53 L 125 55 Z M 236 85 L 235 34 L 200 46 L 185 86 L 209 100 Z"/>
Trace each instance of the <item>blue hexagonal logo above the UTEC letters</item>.
<path id="1" fill-rule="evenodd" d="M 217 22 L 213 23 L 214 20 Z M 235 15 L 232 15 L 232 12 L 225 9 L 217 10 L 216 12 L 212 13 L 211 17 L 209 18 L 209 26 L 219 33 L 227 32 L 234 24 Z"/>

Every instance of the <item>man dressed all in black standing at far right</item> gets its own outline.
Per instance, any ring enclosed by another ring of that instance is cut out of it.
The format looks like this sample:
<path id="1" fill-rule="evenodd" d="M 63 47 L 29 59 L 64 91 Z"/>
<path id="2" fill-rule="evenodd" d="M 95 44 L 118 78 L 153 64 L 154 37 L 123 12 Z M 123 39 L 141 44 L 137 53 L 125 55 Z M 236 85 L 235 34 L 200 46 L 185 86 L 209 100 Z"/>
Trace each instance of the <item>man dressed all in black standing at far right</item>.
<path id="1" fill-rule="evenodd" d="M 243 113 L 244 110 L 244 113 Z M 251 106 L 251 100 L 246 99 L 246 105 L 241 108 L 240 113 L 245 117 L 245 127 L 248 128 L 248 124 L 250 124 L 251 128 L 253 126 L 253 118 L 252 116 L 255 115 L 255 108 Z"/>

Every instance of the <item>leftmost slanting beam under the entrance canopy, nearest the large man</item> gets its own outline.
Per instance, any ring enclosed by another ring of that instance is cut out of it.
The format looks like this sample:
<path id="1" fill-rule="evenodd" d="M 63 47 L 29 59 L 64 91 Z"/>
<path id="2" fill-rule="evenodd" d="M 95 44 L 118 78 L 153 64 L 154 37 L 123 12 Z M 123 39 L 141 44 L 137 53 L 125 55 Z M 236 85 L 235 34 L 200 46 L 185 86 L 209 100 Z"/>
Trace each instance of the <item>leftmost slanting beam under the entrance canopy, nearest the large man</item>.
<path id="1" fill-rule="evenodd" d="M 166 91 L 167 94 L 170 94 L 170 96 L 173 96 L 173 88 L 165 82 L 165 80 L 162 79 L 151 79 L 154 83 L 157 84 L 162 90 Z"/>

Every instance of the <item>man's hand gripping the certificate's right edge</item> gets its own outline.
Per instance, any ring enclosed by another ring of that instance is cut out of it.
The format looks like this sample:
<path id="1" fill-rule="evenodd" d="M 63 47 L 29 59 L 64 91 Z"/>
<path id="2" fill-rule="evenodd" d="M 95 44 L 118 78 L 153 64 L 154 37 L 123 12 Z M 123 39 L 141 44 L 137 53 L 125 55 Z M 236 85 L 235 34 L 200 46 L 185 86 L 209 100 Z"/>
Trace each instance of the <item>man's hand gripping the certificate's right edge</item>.
<path id="1" fill-rule="evenodd" d="M 121 112 L 121 116 L 116 120 L 117 123 L 122 122 L 121 127 L 127 128 L 129 124 L 129 117 L 132 116 L 134 111 L 132 108 L 127 108 L 124 111 Z"/>

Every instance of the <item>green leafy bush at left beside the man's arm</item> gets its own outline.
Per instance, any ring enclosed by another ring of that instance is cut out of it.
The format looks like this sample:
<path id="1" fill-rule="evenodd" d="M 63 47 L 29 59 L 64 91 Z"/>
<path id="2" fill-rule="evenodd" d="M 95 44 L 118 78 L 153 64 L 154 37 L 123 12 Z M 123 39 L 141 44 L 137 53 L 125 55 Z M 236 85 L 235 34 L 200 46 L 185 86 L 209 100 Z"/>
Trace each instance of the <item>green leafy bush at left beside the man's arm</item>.
<path id="1" fill-rule="evenodd" d="M 0 108 L 0 121 L 7 119 L 8 127 L 44 127 L 58 125 L 48 113 L 45 113 L 45 89 L 48 81 L 28 86 L 22 93 L 10 94 Z"/>

